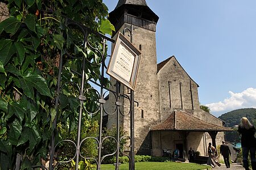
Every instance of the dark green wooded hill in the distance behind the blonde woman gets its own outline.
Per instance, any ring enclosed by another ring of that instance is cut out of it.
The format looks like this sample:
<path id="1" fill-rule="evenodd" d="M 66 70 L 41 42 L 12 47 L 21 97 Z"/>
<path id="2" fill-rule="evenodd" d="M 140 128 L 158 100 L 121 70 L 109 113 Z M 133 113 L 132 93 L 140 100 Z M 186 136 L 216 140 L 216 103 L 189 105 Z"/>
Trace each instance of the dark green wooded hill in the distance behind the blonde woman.
<path id="1" fill-rule="evenodd" d="M 240 124 L 240 120 L 242 117 L 247 117 L 248 120 L 255 125 L 256 120 L 256 109 L 255 108 L 247 108 L 247 109 L 237 109 L 228 113 L 224 113 L 218 118 L 226 122 L 227 127 L 233 127 L 235 125 Z"/>

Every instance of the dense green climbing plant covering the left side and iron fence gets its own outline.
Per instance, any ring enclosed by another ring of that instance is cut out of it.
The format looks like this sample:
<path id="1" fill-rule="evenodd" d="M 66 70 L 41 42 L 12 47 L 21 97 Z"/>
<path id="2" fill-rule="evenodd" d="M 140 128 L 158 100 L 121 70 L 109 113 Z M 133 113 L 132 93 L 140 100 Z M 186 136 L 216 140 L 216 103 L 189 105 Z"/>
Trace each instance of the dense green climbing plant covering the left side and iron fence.
<path id="1" fill-rule="evenodd" d="M 97 81 L 100 76 L 99 54 L 90 49 L 82 51 L 83 37 L 65 27 L 65 17 L 104 34 L 111 35 L 114 27 L 106 19 L 108 8 L 102 0 L 4 2 L 9 18 L 0 23 L 0 169 L 14 169 L 19 160 L 21 169 L 31 169 L 32 164 L 41 164 L 47 157 L 55 118 L 58 128 L 72 131 L 76 126 L 79 93 L 66 85 L 57 94 L 56 88 L 60 57 L 64 58 L 62 80 L 75 84 L 81 79 L 72 70 L 80 73 L 81 59 L 68 59 L 64 46 L 73 50 L 69 54 L 89 61 L 86 80 Z M 100 52 L 104 50 L 96 36 L 91 35 L 88 41 Z M 101 83 L 108 86 L 106 79 Z M 57 95 L 61 105 L 58 115 Z M 97 107 L 89 101 L 94 95 L 86 94 L 86 107 Z M 56 137 L 61 139 L 61 134 Z"/>

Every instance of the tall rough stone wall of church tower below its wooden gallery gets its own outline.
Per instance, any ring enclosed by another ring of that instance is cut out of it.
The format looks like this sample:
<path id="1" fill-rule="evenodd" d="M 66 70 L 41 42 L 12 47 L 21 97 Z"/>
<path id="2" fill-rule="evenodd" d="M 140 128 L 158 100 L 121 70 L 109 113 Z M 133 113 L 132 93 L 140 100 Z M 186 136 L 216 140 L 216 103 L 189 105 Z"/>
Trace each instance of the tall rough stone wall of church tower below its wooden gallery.
<path id="1" fill-rule="evenodd" d="M 131 25 L 125 23 L 119 31 L 123 33 L 125 27 L 131 28 Z M 125 36 L 130 40 L 130 37 L 127 36 L 129 34 L 129 32 L 126 32 Z M 117 33 L 115 36 L 117 36 Z M 135 103 L 134 108 L 135 153 L 142 155 L 151 154 L 150 127 L 159 123 L 155 42 L 154 31 L 133 25 L 133 45 L 140 49 L 142 53 L 134 91 L 134 100 L 139 102 L 138 107 Z M 121 94 L 129 95 L 127 92 L 127 88 L 122 85 Z M 108 103 L 113 103 L 113 95 L 111 94 Z M 127 115 L 130 111 L 129 101 L 122 99 L 122 105 L 123 113 Z M 111 106 L 108 109 L 113 110 Z M 123 117 L 122 121 L 124 130 L 130 135 L 130 116 Z M 115 116 L 109 116 L 108 127 L 110 128 L 114 124 L 116 124 Z"/>

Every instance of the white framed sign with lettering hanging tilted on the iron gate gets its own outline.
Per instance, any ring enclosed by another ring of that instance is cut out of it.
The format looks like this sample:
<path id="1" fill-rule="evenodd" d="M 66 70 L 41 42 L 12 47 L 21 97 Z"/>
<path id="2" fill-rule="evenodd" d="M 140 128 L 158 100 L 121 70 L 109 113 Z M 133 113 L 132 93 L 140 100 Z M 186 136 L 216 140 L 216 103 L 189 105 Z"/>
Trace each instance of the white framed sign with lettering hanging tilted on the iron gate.
<path id="1" fill-rule="evenodd" d="M 140 60 L 141 52 L 119 32 L 106 73 L 134 90 Z"/>

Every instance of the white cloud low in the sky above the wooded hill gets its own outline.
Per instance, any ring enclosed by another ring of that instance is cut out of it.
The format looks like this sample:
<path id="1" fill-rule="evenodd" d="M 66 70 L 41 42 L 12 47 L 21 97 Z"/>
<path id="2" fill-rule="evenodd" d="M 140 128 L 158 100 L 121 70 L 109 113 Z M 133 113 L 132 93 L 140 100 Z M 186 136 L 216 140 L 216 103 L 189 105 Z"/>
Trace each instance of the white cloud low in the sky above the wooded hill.
<path id="1" fill-rule="evenodd" d="M 206 104 L 211 112 L 229 112 L 241 108 L 256 108 L 256 88 L 247 88 L 241 93 L 229 91 L 230 97 L 218 103 Z"/>

